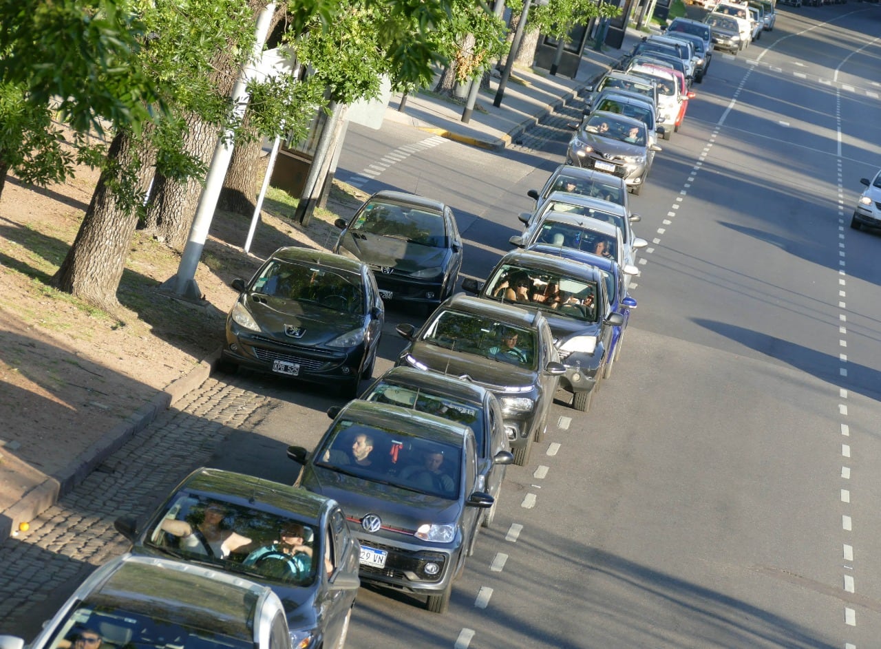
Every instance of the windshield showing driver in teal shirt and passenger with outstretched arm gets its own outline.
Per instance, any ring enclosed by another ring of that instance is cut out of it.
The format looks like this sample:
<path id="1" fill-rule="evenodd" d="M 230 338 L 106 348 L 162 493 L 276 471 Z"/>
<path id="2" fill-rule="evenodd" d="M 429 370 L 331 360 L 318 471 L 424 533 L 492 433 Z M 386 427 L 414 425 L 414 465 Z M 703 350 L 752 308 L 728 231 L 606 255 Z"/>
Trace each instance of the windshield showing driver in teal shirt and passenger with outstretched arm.
<path id="1" fill-rule="evenodd" d="M 258 581 L 309 586 L 316 573 L 312 555 L 320 551 L 316 538 L 315 528 L 290 514 L 236 505 L 221 495 L 181 491 L 168 501 L 144 544 Z"/>

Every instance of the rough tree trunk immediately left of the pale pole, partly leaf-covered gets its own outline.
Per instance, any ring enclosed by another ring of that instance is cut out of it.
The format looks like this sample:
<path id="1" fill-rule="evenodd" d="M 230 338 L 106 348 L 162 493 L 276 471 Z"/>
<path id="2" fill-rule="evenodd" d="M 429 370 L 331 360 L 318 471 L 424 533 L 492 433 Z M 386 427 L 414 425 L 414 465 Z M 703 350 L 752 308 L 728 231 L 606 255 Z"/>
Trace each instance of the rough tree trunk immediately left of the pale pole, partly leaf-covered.
<path id="1" fill-rule="evenodd" d="M 218 142 L 218 127 L 199 119 L 196 114 L 187 118 L 189 128 L 183 137 L 182 150 L 202 160 L 207 166 Z M 153 178 L 150 202 L 144 231 L 164 241 L 175 250 L 187 243 L 189 228 L 196 216 L 196 206 L 202 195 L 202 180 L 188 178 L 174 181 L 161 174 Z"/>

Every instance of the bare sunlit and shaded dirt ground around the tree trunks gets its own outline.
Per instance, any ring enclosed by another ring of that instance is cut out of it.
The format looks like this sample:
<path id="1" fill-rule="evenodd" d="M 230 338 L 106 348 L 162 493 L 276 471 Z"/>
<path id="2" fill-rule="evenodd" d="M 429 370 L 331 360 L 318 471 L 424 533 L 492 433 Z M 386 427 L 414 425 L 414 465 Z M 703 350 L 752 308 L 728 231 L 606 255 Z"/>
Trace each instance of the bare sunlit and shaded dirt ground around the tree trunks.
<path id="1" fill-rule="evenodd" d="M 51 288 L 49 279 L 76 237 L 97 173 L 66 184 L 26 188 L 9 178 L 0 198 L 0 462 L 3 454 L 52 475 L 158 390 L 186 375 L 223 340 L 234 277 L 250 277 L 281 246 L 326 247 L 336 216 L 351 216 L 363 192 L 335 184 L 307 228 L 270 194 L 246 254 L 250 218 L 218 211 L 193 303 L 159 290 L 180 255 L 137 232 L 117 297 L 106 313 Z"/>

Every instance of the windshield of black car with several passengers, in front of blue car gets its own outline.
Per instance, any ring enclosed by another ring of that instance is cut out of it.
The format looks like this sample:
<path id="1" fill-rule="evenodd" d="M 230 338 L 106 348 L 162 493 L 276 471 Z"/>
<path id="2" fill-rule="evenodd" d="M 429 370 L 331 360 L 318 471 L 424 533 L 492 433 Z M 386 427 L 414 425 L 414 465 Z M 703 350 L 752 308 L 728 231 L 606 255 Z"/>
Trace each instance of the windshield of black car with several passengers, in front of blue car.
<path id="1" fill-rule="evenodd" d="M 503 264 L 486 281 L 485 297 L 507 301 L 511 277 L 528 277 L 530 306 L 583 322 L 596 322 L 596 283 L 571 275 Z"/>

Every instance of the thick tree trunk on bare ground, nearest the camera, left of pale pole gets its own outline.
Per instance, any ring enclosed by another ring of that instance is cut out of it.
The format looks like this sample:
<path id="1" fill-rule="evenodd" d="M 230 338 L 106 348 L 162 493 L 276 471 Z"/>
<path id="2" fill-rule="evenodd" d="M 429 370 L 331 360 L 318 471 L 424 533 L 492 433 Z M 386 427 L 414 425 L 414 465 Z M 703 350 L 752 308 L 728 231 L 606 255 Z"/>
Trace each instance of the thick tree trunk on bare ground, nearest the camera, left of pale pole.
<path id="1" fill-rule="evenodd" d="M 152 167 L 154 155 L 144 139 L 128 132 L 114 137 L 107 151 L 110 166 L 101 173 L 77 238 L 53 277 L 61 291 L 105 311 L 119 306 L 116 290 L 137 225 L 137 207 L 124 209 L 112 187 L 120 180 L 120 170 L 131 171 L 137 173 L 137 188 L 145 192 L 149 180 L 144 170 Z"/>

